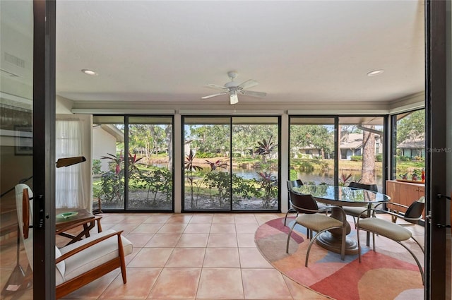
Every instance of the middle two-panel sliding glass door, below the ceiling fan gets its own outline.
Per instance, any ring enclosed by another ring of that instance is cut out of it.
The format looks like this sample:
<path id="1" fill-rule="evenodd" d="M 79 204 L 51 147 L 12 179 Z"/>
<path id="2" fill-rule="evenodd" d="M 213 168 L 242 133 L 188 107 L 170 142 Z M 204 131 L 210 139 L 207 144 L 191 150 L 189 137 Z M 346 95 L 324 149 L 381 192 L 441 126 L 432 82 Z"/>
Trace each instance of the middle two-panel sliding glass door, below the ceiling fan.
<path id="1" fill-rule="evenodd" d="M 184 117 L 184 210 L 278 210 L 279 117 Z"/>

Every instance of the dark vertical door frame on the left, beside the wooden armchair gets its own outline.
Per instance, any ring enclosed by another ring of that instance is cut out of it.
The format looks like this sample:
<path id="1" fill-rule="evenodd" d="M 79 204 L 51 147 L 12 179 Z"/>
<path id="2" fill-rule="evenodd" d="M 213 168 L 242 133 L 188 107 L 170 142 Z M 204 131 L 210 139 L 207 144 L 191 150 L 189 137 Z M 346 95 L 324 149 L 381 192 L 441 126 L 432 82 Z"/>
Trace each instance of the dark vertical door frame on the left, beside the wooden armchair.
<path id="1" fill-rule="evenodd" d="M 33 299 L 55 299 L 55 20 L 33 0 Z"/>

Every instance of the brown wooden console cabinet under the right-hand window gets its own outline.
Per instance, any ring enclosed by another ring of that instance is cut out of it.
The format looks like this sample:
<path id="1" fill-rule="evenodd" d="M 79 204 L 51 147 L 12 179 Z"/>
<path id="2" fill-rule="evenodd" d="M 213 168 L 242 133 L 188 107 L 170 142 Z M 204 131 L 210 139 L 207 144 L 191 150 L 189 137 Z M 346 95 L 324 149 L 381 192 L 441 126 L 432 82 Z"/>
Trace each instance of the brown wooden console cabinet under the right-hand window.
<path id="1" fill-rule="evenodd" d="M 425 196 L 425 186 L 424 184 L 412 182 L 387 180 L 386 194 L 391 197 L 391 202 L 410 206 L 411 203 L 421 198 L 421 196 Z M 425 220 L 425 210 L 422 212 L 422 219 Z"/>

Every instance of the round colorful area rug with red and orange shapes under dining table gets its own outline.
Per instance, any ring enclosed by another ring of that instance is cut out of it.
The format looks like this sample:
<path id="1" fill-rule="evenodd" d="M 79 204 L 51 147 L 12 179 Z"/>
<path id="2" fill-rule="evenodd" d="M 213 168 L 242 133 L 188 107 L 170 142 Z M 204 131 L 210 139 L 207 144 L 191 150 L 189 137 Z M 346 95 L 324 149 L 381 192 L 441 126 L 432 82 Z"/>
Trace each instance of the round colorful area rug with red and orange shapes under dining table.
<path id="1" fill-rule="evenodd" d="M 293 218 L 288 218 L 286 227 L 284 218 L 270 220 L 258 227 L 255 241 L 268 262 L 295 282 L 338 300 L 424 299 L 422 278 L 415 260 L 396 242 L 376 236 L 374 252 L 365 246 L 365 232 L 359 232 L 364 242 L 361 263 L 357 255 L 345 256 L 345 260 L 341 260 L 340 254 L 314 243 L 306 268 L 304 260 L 309 239 L 304 227 L 295 227 L 290 240 L 290 254 L 285 253 L 287 234 L 293 222 Z M 348 236 L 356 239 L 353 228 L 354 225 Z M 412 244 L 410 249 L 417 251 L 414 241 Z M 422 262 L 422 251 L 419 249 L 415 253 Z"/>

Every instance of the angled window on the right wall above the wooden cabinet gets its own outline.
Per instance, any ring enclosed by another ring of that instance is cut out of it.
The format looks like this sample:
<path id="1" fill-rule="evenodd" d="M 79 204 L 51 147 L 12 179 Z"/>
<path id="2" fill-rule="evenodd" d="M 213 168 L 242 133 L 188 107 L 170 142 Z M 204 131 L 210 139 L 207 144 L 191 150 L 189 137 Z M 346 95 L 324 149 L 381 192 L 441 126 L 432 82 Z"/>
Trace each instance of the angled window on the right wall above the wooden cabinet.
<path id="1" fill-rule="evenodd" d="M 391 179 L 424 181 L 425 110 L 396 114 L 393 124 Z"/>

